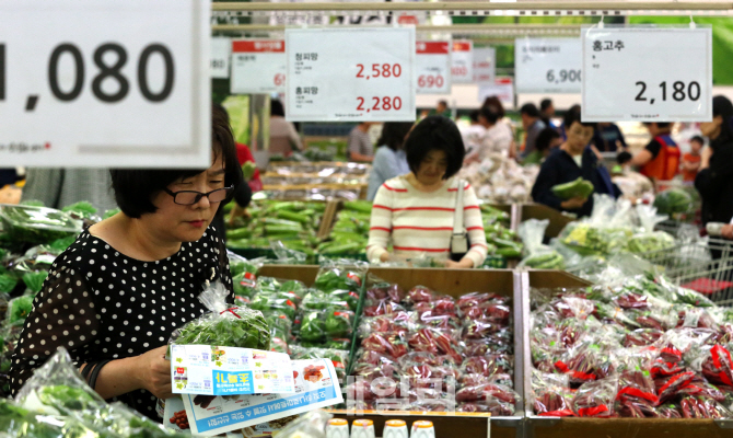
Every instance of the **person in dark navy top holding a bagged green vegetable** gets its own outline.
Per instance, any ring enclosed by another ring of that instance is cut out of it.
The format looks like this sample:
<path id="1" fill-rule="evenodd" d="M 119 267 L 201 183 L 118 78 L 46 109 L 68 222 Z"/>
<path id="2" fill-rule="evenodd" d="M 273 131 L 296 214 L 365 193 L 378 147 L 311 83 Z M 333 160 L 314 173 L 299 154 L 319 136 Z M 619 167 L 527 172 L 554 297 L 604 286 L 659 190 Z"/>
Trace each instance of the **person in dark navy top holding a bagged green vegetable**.
<path id="1" fill-rule="evenodd" d="M 568 139 L 543 163 L 532 187 L 532 198 L 556 210 L 573 212 L 579 217 L 590 216 L 593 211 L 593 195 L 563 200 L 552 193 L 552 187 L 582 177 L 593 184 L 594 193 L 605 193 L 617 198 L 621 191 L 610 182 L 607 174 L 601 172 L 597 157 L 587 148 L 595 124 L 582 122 L 580 113 L 574 112 L 566 115 L 565 123 Z"/>

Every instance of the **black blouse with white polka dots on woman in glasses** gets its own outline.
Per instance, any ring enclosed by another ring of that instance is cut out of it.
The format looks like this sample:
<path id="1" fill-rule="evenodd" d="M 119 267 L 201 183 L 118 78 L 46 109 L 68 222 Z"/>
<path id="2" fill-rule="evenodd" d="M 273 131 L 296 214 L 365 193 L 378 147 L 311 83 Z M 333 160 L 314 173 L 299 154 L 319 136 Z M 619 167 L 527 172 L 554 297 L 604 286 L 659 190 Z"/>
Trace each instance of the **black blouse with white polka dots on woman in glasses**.
<path id="1" fill-rule="evenodd" d="M 141 262 L 81 233 L 56 258 L 33 301 L 12 359 L 13 394 L 58 347 L 81 366 L 166 345 L 174 330 L 207 311 L 198 300 L 207 281 L 220 279 L 232 290 L 226 251 L 216 235 L 210 227 L 176 254 Z M 113 400 L 158 419 L 156 399 L 147 390 Z"/>

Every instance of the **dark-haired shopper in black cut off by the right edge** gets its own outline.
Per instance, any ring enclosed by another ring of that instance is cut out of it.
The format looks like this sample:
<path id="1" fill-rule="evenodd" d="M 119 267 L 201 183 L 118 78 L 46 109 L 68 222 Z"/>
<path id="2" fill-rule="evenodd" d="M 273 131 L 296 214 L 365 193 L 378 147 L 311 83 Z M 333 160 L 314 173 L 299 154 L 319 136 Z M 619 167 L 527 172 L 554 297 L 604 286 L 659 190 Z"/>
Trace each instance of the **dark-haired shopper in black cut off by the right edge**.
<path id="1" fill-rule="evenodd" d="M 712 99 L 712 122 L 700 124 L 710 140 L 700 158 L 695 188 L 702 198 L 702 223 L 730 223 L 733 219 L 733 105 L 725 96 Z M 733 226 L 723 229 L 733 238 Z"/>

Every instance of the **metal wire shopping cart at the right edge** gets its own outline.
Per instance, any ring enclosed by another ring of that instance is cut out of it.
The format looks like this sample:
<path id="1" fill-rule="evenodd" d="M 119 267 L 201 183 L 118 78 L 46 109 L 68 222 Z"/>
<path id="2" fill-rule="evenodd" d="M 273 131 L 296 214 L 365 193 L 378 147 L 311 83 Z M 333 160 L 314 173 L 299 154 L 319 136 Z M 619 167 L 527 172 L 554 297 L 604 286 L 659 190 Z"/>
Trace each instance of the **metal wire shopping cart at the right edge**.
<path id="1" fill-rule="evenodd" d="M 719 306 L 733 306 L 733 241 L 700 238 L 689 223 L 665 221 L 656 227 L 675 237 L 674 247 L 638 254 L 674 284 L 697 290 Z"/>

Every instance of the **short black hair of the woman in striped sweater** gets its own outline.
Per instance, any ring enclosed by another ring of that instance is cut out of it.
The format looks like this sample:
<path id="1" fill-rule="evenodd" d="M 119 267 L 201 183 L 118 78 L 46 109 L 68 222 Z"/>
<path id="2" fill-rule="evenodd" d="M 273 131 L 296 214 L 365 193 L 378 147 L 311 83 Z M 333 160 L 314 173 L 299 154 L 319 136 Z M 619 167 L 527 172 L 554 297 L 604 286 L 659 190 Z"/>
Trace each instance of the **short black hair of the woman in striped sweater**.
<path id="1" fill-rule="evenodd" d="M 443 116 L 429 116 L 420 122 L 405 141 L 405 153 L 410 171 L 417 174 L 420 163 L 432 150 L 445 152 L 447 169 L 443 180 L 458 173 L 466 155 L 466 148 L 458 127 L 453 120 Z"/>

